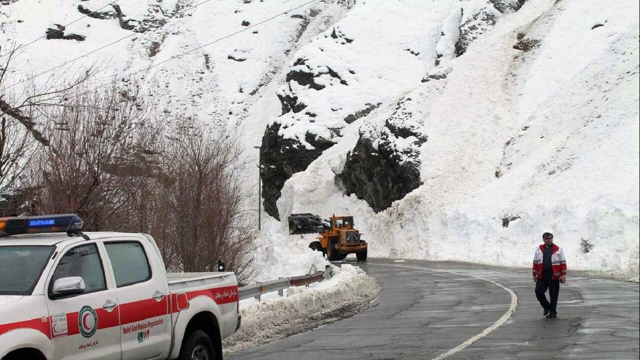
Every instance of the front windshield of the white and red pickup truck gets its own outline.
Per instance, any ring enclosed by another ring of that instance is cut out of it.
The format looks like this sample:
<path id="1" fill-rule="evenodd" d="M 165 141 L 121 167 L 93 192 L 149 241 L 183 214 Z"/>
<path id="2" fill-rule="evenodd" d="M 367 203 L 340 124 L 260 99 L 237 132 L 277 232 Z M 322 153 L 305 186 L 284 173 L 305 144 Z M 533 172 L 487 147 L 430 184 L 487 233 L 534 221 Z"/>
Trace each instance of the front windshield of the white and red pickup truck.
<path id="1" fill-rule="evenodd" d="M 31 295 L 54 247 L 0 246 L 0 295 Z"/>

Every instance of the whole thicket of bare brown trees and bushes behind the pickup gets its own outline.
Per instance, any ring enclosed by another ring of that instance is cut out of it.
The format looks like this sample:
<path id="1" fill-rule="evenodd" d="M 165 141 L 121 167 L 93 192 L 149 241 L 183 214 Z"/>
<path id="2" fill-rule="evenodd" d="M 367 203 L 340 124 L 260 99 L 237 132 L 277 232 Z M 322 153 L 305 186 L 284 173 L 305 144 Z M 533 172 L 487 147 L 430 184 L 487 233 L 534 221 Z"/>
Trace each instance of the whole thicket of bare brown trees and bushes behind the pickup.
<path id="1" fill-rule="evenodd" d="M 136 81 L 92 86 L 93 69 L 11 83 L 13 56 L 0 68 L 0 190 L 20 190 L 27 213 L 78 213 L 88 231 L 154 234 L 171 270 L 215 271 L 221 259 L 239 282 L 253 278 L 234 138 L 194 118 L 167 131 Z"/>

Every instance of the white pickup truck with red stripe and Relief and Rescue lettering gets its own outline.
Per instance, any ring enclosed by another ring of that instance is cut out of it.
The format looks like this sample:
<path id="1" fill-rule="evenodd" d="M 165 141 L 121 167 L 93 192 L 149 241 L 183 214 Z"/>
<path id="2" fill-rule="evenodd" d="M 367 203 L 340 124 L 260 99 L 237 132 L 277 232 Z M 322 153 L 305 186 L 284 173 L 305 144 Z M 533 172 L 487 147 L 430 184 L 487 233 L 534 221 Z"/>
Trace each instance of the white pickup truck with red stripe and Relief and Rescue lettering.
<path id="1" fill-rule="evenodd" d="M 234 273 L 167 274 L 151 236 L 81 227 L 0 218 L 1 360 L 222 359 L 241 321 Z"/>

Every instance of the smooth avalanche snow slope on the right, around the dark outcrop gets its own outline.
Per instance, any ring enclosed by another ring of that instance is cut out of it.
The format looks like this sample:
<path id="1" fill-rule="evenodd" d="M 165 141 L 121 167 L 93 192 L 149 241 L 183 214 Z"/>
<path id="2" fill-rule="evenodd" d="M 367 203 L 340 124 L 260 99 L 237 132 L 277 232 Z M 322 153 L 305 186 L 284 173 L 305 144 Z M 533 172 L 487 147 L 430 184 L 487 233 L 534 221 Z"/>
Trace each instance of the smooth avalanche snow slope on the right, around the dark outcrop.
<path id="1" fill-rule="evenodd" d="M 345 129 L 285 184 L 281 216 L 355 213 L 376 255 L 501 265 L 529 265 L 551 231 L 570 268 L 637 278 L 636 10 L 632 2 L 526 3 L 432 71 L 439 76 Z M 353 171 L 345 163 L 358 131 L 378 136 L 380 150 L 398 112 L 427 138 L 393 142 L 419 152 L 422 184 L 374 213 L 342 195 L 333 174 Z M 588 253 L 585 242 L 594 245 Z"/>

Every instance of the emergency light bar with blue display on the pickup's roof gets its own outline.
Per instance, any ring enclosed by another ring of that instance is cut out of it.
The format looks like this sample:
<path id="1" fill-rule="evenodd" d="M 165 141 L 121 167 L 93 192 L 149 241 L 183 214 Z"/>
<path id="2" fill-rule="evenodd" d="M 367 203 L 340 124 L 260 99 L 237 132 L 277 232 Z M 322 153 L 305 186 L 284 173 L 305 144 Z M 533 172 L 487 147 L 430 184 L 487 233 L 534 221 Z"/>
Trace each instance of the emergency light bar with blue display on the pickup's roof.
<path id="1" fill-rule="evenodd" d="M 0 236 L 40 233 L 77 233 L 84 225 L 76 214 L 0 218 Z"/>

